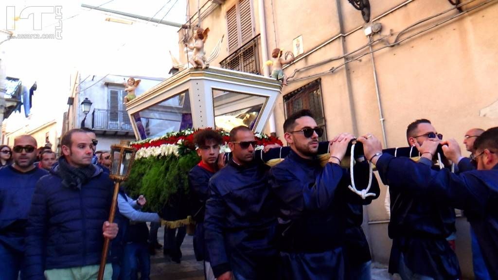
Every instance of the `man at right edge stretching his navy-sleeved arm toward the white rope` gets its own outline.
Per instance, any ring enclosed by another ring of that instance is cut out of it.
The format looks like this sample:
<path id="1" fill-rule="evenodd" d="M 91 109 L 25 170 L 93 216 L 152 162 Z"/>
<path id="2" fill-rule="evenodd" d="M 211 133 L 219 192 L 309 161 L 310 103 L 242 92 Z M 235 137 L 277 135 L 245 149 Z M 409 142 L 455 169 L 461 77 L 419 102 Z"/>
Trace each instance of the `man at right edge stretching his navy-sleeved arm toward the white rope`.
<path id="1" fill-rule="evenodd" d="M 459 175 L 447 169 L 432 170 L 409 158 L 382 154 L 380 141 L 370 134 L 359 141 L 364 145 L 365 155 L 377 166 L 382 181 L 390 188 L 423 197 L 432 204 L 463 209 L 476 233 L 490 276 L 498 279 L 498 127 L 487 130 L 474 143 L 477 170 Z M 428 139 L 422 145 L 417 144 L 417 148 L 422 157 L 432 159 L 431 154 L 439 143 Z M 446 157 L 458 163 L 458 143 L 449 140 L 441 144 Z"/>

